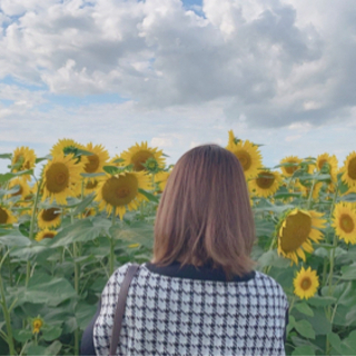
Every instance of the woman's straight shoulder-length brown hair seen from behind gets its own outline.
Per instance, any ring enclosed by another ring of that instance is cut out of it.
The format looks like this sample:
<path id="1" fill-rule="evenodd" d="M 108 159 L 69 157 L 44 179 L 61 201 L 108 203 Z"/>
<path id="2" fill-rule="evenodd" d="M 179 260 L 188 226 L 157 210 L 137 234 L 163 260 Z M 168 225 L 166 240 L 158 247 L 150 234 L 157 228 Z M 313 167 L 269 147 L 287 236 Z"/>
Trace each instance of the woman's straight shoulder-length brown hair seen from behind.
<path id="1" fill-rule="evenodd" d="M 210 264 L 230 279 L 253 269 L 254 240 L 248 190 L 235 155 L 217 145 L 186 152 L 158 207 L 152 263 Z"/>

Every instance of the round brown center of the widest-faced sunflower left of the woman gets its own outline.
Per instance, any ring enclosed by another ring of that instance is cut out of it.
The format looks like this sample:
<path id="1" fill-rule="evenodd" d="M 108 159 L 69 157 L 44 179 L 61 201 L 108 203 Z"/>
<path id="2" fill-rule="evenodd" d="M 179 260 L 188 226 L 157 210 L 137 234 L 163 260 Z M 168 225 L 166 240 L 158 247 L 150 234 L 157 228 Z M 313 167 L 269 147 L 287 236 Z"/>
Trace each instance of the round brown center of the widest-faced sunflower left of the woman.
<path id="1" fill-rule="evenodd" d="M 102 186 L 102 199 L 113 207 L 128 205 L 138 192 L 138 181 L 134 175 L 111 177 Z"/>

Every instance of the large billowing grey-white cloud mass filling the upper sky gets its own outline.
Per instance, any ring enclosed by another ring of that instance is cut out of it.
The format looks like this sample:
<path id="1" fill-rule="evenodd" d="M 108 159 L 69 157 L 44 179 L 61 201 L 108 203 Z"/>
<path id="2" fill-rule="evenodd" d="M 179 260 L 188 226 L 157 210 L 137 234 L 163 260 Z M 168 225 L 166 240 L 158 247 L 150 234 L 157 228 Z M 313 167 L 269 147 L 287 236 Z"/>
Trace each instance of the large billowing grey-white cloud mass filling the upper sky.
<path id="1" fill-rule="evenodd" d="M 319 11 L 323 8 L 323 11 Z M 2 1 L 0 77 L 53 93 L 117 92 L 148 108 L 229 99 L 250 126 L 348 120 L 353 1 Z M 2 17 L 3 17 L 2 16 Z"/>

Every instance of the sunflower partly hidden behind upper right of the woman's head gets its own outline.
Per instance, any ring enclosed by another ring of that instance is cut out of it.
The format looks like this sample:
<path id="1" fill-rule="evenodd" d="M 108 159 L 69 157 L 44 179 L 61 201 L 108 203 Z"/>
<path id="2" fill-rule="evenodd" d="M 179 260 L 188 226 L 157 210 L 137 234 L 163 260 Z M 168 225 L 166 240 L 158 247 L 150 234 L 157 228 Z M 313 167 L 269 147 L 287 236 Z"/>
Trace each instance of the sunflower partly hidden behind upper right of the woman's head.
<path id="1" fill-rule="evenodd" d="M 234 138 L 234 139 L 233 139 Z M 249 140 L 237 140 L 234 137 L 233 130 L 229 131 L 229 141 L 226 147 L 233 152 L 243 166 L 245 178 L 254 178 L 258 175 L 258 169 L 261 167 L 261 155 L 256 145 Z"/>

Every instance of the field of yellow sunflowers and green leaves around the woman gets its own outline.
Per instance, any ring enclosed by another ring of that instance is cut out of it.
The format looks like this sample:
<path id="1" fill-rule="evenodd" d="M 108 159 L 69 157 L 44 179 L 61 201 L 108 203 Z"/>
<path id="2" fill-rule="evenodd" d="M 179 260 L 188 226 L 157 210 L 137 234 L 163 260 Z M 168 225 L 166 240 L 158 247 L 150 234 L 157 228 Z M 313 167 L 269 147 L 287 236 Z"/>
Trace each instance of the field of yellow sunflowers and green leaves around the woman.
<path id="1" fill-rule="evenodd" d="M 226 148 L 248 184 L 257 269 L 288 296 L 287 355 L 355 355 L 356 152 L 267 168 L 233 131 Z M 110 158 L 62 139 L 46 157 L 19 147 L 0 158 L 0 354 L 78 355 L 109 276 L 150 260 L 174 167 L 147 142 Z"/>

